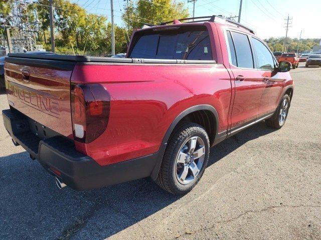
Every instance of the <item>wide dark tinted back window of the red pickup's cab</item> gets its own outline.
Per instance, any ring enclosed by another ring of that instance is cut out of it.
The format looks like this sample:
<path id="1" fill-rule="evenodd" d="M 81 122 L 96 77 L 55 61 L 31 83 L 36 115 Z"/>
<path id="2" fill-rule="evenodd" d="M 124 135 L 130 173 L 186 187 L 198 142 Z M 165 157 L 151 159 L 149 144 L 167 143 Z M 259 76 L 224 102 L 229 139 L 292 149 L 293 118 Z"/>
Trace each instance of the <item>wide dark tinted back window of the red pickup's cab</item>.
<path id="1" fill-rule="evenodd" d="M 210 36 L 205 26 L 150 29 L 136 34 L 129 57 L 213 60 Z"/>

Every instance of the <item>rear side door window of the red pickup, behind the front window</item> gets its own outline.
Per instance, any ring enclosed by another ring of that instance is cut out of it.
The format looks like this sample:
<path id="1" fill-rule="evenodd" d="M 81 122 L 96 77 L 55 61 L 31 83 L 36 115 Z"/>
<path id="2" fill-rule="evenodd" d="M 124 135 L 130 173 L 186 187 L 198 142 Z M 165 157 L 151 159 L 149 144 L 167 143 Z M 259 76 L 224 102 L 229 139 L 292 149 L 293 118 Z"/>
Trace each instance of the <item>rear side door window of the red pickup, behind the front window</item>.
<path id="1" fill-rule="evenodd" d="M 247 35 L 232 31 L 232 36 L 235 46 L 237 66 L 254 68 L 251 46 Z"/>

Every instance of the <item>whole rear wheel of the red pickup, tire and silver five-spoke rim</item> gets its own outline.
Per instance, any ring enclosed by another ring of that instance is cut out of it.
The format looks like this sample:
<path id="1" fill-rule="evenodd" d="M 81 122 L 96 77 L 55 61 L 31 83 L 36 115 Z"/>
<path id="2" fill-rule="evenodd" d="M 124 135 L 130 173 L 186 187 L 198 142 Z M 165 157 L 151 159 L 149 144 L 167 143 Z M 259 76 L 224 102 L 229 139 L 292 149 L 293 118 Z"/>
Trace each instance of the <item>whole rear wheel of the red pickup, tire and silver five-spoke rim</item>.
<path id="1" fill-rule="evenodd" d="M 168 142 L 156 183 L 173 194 L 189 192 L 202 177 L 209 152 L 205 129 L 196 123 L 181 124 Z"/>

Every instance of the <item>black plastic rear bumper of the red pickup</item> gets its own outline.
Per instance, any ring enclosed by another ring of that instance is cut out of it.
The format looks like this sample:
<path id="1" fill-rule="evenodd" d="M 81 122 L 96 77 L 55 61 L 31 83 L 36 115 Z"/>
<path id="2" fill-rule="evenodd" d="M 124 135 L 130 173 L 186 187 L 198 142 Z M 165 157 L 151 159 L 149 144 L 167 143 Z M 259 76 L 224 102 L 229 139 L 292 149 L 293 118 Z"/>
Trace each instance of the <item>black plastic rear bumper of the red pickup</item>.
<path id="1" fill-rule="evenodd" d="M 15 109 L 2 111 L 9 134 L 35 157 L 52 175 L 68 186 L 93 189 L 149 176 L 157 153 L 101 166 L 91 157 L 78 152 L 74 142 L 64 136 L 39 138 L 28 125 L 27 117 Z"/>

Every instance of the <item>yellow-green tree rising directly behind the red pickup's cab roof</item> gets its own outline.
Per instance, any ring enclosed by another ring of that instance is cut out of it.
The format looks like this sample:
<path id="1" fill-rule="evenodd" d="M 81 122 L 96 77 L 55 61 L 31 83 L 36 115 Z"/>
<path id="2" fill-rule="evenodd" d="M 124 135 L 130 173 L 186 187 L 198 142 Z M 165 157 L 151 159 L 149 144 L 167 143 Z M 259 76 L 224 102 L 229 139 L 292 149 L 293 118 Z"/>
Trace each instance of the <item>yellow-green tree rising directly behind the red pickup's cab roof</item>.
<path id="1" fill-rule="evenodd" d="M 159 24 L 163 21 L 189 16 L 183 2 L 175 0 L 136 0 L 130 1 L 122 19 L 129 29 L 140 28 L 143 23 Z"/>

